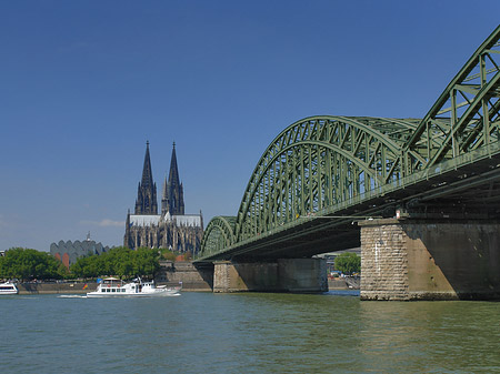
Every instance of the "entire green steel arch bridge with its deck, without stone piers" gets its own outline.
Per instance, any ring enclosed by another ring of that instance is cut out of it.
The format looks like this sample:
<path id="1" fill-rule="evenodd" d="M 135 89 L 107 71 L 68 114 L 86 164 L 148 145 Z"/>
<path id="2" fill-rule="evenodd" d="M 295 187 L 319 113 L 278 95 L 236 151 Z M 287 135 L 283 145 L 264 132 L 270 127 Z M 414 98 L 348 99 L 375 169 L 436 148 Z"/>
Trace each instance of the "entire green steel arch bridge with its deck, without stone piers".
<path id="1" fill-rule="evenodd" d="M 198 262 L 301 257 L 359 245 L 369 215 L 500 214 L 500 27 L 423 119 L 311 117 L 257 163 L 236 216 L 217 216 Z M 467 209 L 467 212 L 466 212 Z"/>

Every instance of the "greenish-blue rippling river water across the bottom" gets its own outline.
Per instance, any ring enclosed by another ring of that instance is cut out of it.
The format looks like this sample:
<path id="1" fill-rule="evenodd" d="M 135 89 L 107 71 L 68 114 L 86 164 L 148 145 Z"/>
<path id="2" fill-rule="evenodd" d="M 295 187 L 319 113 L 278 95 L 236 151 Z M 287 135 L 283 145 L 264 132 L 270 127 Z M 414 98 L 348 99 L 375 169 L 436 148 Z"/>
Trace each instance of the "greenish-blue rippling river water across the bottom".
<path id="1" fill-rule="evenodd" d="M 499 373 L 500 303 L 1 296 L 0 373 Z"/>

